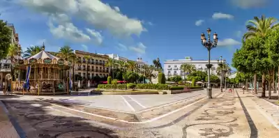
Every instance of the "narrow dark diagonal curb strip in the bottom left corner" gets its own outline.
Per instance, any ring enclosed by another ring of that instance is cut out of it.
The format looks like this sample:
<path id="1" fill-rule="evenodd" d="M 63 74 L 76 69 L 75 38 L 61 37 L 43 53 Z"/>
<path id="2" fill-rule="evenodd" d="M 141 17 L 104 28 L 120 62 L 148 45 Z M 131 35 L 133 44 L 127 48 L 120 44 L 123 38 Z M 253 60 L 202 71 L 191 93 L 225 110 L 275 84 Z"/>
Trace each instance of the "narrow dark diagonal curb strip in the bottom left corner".
<path id="1" fill-rule="evenodd" d="M 24 130 L 20 127 L 20 125 L 17 123 L 17 120 L 8 112 L 8 109 L 6 108 L 6 105 L 3 104 L 3 102 L 0 100 L 0 107 L 3 109 L 3 111 L 8 116 L 10 123 L 12 123 L 13 128 L 15 128 L 15 131 L 17 132 L 17 135 L 20 136 L 20 138 L 25 138 L 26 134 Z"/>

